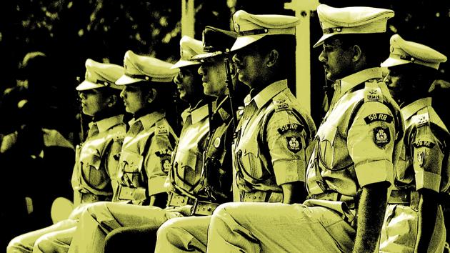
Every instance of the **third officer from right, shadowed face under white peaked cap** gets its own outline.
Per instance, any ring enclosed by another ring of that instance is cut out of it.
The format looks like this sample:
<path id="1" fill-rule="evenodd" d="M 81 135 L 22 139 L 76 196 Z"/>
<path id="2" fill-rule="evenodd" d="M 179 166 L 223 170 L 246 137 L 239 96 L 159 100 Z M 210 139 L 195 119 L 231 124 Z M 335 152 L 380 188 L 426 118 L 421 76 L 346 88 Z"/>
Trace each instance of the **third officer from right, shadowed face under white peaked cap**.
<path id="1" fill-rule="evenodd" d="M 250 208 L 258 206 L 255 202 L 292 203 L 305 197 L 307 147 L 316 128 L 309 114 L 296 102 L 286 81 L 289 75 L 286 66 L 293 64 L 289 57 L 294 55 L 298 22 L 293 16 L 252 15 L 245 11 L 234 14 L 239 36 L 231 47 L 233 61 L 239 81 L 250 88 L 244 109 L 239 111 L 241 119 L 233 145 L 239 193 L 234 201 L 248 202 Z M 202 68 L 204 64 L 200 73 Z M 209 79 L 204 76 L 204 80 Z M 223 204 L 218 208 L 241 204 Z M 205 217 L 166 222 L 159 229 L 156 252 L 193 249 L 206 252 L 210 220 L 211 217 Z M 224 252 L 224 249 L 213 252 Z"/>

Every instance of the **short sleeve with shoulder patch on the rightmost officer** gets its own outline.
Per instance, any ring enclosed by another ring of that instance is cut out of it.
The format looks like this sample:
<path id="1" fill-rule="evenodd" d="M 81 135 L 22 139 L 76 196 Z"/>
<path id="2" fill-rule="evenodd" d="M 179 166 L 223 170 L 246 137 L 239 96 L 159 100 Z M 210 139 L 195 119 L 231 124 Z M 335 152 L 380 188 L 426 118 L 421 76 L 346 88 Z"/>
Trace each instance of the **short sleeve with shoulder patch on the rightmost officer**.
<path id="1" fill-rule="evenodd" d="M 444 153 L 441 151 L 438 138 L 431 132 L 428 124 L 417 128 L 413 136 L 411 153 L 414 154 L 416 189 L 426 188 L 439 192 Z"/>

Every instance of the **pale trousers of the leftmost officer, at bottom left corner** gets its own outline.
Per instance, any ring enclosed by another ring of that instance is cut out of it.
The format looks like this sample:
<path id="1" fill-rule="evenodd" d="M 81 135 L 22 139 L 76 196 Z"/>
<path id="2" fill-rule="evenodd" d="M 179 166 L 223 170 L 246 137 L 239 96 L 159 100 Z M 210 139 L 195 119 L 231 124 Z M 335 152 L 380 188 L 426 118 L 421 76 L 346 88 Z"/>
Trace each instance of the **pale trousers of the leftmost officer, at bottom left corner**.
<path id="1" fill-rule="evenodd" d="M 67 252 L 77 223 L 77 219 L 65 219 L 49 227 L 21 234 L 9 242 L 6 252 Z"/>

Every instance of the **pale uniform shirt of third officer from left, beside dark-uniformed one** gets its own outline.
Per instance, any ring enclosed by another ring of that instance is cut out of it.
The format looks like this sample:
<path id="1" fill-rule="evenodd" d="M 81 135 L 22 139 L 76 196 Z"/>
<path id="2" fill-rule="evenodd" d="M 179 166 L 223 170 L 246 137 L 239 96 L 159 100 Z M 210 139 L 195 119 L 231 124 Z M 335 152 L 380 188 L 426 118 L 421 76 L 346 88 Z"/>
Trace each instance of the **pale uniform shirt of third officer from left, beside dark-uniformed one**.
<path id="1" fill-rule="evenodd" d="M 171 190 L 179 194 L 195 195 L 194 189 L 200 183 L 203 152 L 209 133 L 209 109 L 204 101 L 193 109 L 186 109 L 181 117 L 184 125 L 181 129 L 170 173 Z"/>

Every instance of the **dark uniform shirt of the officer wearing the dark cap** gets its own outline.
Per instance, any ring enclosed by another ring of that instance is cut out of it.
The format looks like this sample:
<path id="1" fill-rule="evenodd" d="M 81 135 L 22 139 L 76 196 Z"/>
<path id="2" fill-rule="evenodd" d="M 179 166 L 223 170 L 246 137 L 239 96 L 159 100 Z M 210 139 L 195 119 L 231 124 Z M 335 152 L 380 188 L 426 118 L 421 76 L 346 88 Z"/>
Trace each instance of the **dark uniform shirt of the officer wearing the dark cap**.
<path id="1" fill-rule="evenodd" d="M 229 96 L 217 99 L 217 108 L 211 116 L 211 131 L 205 151 L 204 172 L 200 194 L 210 201 L 221 204 L 232 201 L 233 163 L 231 143 L 234 121 Z"/>

